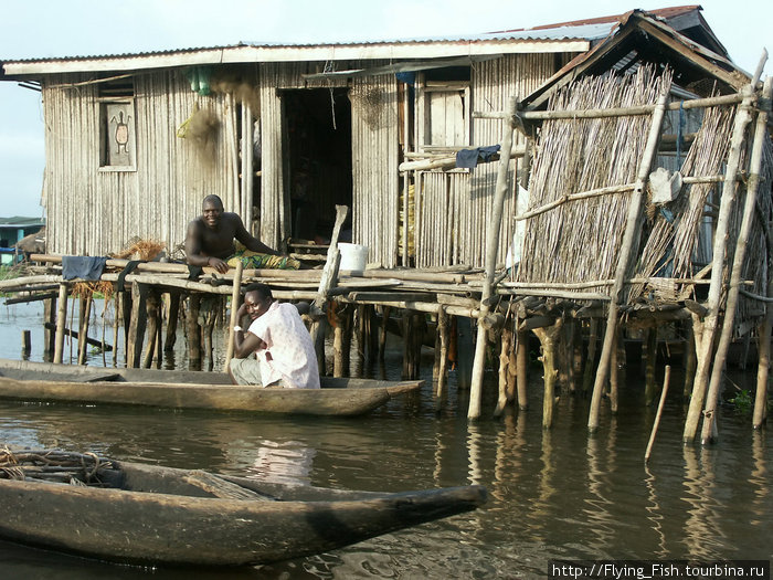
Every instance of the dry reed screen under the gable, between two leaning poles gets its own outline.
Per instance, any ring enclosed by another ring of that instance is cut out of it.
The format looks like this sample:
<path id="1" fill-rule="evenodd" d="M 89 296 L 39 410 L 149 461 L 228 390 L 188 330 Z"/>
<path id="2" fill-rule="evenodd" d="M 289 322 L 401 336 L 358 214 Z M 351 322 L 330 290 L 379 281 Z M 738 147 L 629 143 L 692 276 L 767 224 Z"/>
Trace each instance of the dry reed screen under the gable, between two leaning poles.
<path id="1" fill-rule="evenodd" d="M 633 75 L 585 77 L 557 93 L 550 108 L 654 104 L 670 82 L 670 73 L 656 75 L 655 68 L 647 66 Z M 534 157 L 528 209 L 570 193 L 635 181 L 649 125 L 648 116 L 546 122 Z M 614 277 L 628 200 L 626 193 L 587 198 L 529 219 L 518 281 L 571 283 Z"/>

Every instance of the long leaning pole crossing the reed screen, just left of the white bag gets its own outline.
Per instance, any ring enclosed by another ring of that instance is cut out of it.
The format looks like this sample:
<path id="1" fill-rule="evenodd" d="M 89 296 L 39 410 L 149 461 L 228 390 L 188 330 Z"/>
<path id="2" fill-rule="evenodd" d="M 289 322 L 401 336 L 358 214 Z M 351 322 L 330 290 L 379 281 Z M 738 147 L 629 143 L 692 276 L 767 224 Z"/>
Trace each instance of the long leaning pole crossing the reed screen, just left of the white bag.
<path id="1" fill-rule="evenodd" d="M 649 126 L 649 135 L 647 136 L 647 144 L 642 156 L 642 161 L 639 164 L 638 175 L 636 179 L 636 188 L 631 194 L 628 215 L 625 223 L 625 233 L 623 235 L 623 241 L 621 243 L 621 251 L 617 259 L 617 267 L 615 270 L 615 284 L 612 287 L 610 294 L 610 307 L 606 317 L 606 330 L 604 331 L 604 342 L 602 345 L 601 358 L 599 360 L 599 369 L 596 370 L 596 378 L 593 384 L 593 396 L 591 398 L 591 411 L 587 419 L 587 429 L 591 433 L 599 429 L 599 410 L 601 407 L 601 397 L 604 384 L 606 382 L 606 377 L 610 370 L 610 360 L 612 348 L 616 348 L 614 344 L 615 333 L 617 328 L 617 315 L 620 312 L 620 304 L 623 299 L 623 286 L 626 274 L 628 272 L 628 265 L 632 260 L 632 254 L 634 245 L 638 241 L 638 235 L 640 232 L 640 214 L 642 205 L 644 200 L 644 189 L 647 184 L 647 179 L 649 178 L 649 169 L 657 155 L 657 144 L 660 137 L 660 128 L 663 126 L 663 119 L 666 114 L 666 103 L 668 99 L 667 94 L 660 95 L 657 105 L 653 112 L 653 118 Z"/>

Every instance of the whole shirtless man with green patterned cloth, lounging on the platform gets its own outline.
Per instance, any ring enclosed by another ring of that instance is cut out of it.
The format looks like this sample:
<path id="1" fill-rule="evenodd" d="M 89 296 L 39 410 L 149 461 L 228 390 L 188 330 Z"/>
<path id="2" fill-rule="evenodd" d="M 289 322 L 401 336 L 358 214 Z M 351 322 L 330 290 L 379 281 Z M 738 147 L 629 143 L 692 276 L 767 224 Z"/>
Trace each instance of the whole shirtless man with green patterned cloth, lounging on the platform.
<path id="1" fill-rule="evenodd" d="M 236 250 L 234 239 L 244 246 L 242 250 Z M 248 268 L 298 270 L 300 265 L 250 235 L 236 213 L 223 210 L 218 196 L 207 196 L 201 215 L 188 224 L 186 255 L 190 265 L 211 266 L 221 274 L 240 261 Z"/>

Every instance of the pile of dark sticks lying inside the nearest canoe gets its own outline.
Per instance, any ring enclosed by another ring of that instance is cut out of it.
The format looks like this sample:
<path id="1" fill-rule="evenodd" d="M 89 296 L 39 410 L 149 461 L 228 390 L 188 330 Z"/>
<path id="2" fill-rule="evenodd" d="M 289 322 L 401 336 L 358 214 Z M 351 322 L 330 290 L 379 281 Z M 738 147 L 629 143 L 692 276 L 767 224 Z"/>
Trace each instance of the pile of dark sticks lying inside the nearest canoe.
<path id="1" fill-rule="evenodd" d="M 112 467 L 109 461 L 94 453 L 0 450 L 0 479 L 98 486 L 102 485 L 99 470 Z"/>

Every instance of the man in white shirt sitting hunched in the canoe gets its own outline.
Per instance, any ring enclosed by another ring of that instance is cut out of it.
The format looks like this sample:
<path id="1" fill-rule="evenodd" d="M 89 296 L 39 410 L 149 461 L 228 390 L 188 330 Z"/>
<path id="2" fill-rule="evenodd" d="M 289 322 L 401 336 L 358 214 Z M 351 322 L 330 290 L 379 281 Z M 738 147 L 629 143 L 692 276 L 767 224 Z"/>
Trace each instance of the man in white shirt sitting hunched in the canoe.
<path id="1" fill-rule="evenodd" d="M 268 286 L 257 284 L 244 295 L 236 319 L 245 315 L 252 320 L 250 328 L 233 329 L 231 380 L 235 384 L 319 389 L 317 354 L 298 308 L 276 302 Z"/>

